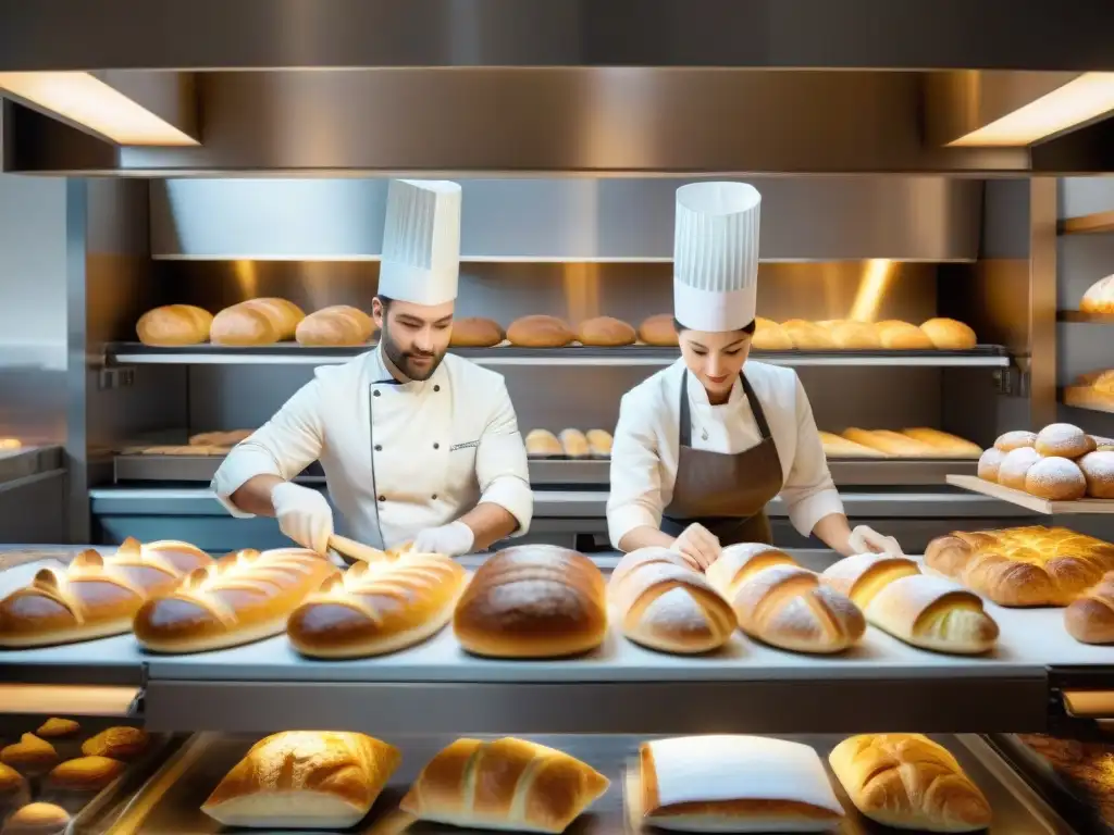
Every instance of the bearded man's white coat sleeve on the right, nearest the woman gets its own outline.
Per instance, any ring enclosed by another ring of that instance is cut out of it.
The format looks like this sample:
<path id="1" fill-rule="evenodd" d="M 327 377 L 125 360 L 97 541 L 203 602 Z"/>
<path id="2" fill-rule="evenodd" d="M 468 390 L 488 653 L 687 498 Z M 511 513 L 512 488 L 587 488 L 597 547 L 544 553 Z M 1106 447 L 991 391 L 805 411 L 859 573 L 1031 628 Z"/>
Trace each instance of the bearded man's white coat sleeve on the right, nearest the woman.
<path id="1" fill-rule="evenodd" d="M 530 490 L 526 444 L 518 431 L 518 418 L 506 385 L 499 386 L 491 420 L 480 435 L 476 479 L 480 485 L 480 503 L 498 504 L 518 521 L 514 536 L 526 533 L 534 519 L 534 491 Z"/>

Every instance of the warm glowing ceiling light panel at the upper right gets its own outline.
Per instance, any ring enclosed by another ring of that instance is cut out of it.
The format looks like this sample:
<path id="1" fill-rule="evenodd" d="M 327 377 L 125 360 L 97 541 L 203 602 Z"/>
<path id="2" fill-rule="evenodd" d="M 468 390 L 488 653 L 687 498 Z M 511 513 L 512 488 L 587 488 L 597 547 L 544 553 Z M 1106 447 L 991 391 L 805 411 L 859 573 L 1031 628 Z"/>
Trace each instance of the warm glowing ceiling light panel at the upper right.
<path id="1" fill-rule="evenodd" d="M 948 145 L 1032 145 L 1114 110 L 1114 72 L 1084 72 Z"/>

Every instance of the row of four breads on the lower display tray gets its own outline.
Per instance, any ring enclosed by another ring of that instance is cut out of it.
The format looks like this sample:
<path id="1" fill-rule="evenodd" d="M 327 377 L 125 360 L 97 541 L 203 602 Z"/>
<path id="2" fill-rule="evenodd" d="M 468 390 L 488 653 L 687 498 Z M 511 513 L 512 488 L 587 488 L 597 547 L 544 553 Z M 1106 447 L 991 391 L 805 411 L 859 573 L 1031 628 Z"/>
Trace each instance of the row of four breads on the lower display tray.
<path id="1" fill-rule="evenodd" d="M 274 734 L 252 746 L 202 811 L 225 826 L 354 826 L 401 760 L 398 748 L 363 734 Z M 986 797 L 959 762 L 919 734 L 853 736 L 828 762 L 859 814 L 877 823 L 934 832 L 990 823 Z M 399 808 L 407 823 L 556 834 L 609 786 L 590 765 L 555 748 L 516 738 L 463 738 L 433 756 Z M 624 794 L 635 831 L 824 832 L 847 815 L 817 750 L 769 737 L 643 743 Z"/>

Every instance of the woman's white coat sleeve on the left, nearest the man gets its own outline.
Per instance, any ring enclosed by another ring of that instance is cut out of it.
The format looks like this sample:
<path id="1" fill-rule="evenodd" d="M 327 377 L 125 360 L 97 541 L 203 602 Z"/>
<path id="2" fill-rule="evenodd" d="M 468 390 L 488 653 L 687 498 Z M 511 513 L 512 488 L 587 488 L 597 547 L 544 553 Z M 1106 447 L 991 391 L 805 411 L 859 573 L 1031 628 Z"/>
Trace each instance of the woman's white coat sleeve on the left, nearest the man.
<path id="1" fill-rule="evenodd" d="M 635 528 L 662 527 L 661 456 L 649 404 L 633 392 L 623 396 L 612 442 L 612 483 L 607 497 L 607 534 L 612 546 Z"/>

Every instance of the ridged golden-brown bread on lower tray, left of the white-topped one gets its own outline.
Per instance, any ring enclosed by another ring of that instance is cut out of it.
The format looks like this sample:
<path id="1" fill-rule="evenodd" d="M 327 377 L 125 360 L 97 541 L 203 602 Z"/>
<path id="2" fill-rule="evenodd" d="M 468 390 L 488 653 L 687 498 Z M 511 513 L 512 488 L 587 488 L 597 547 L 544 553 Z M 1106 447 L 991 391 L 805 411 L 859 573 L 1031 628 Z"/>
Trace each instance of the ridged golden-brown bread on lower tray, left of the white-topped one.
<path id="1" fill-rule="evenodd" d="M 564 832 L 608 780 L 563 752 L 524 739 L 458 739 L 418 775 L 400 808 L 468 828 Z"/>

